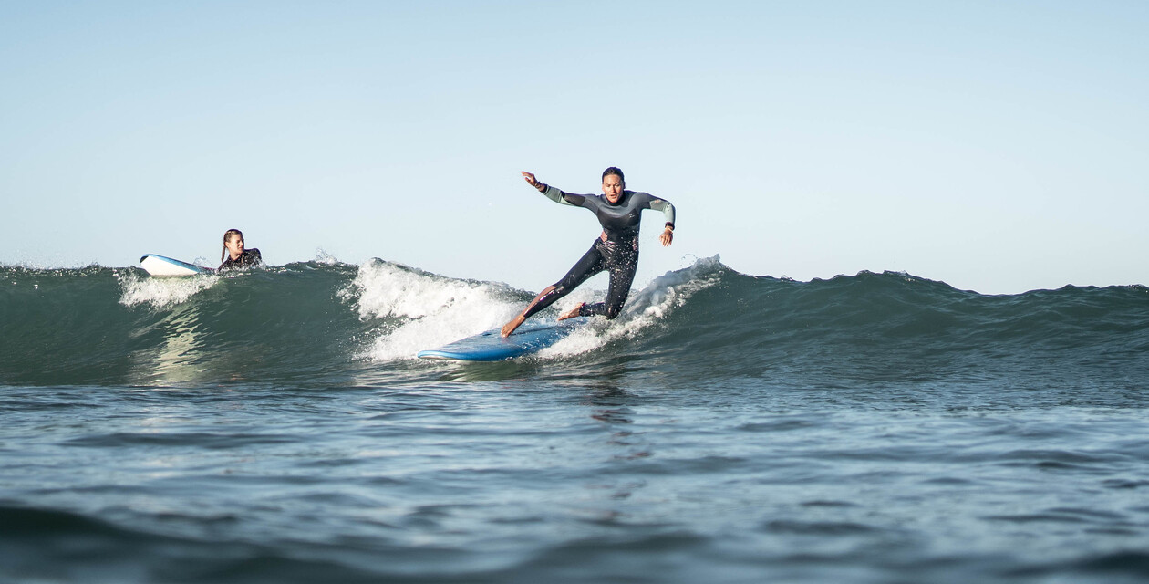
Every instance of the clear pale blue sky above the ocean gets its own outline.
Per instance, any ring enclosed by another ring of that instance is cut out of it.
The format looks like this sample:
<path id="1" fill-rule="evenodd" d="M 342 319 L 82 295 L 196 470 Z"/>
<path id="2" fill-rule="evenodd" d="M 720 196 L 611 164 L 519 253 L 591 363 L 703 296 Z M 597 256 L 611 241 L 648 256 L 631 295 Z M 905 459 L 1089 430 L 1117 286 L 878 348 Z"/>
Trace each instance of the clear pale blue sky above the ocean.
<path id="1" fill-rule="evenodd" d="M 646 212 L 720 256 L 1149 284 L 1149 2 L 0 0 L 0 263 L 380 258 L 538 291 Z M 592 286 L 606 287 L 604 277 Z"/>

